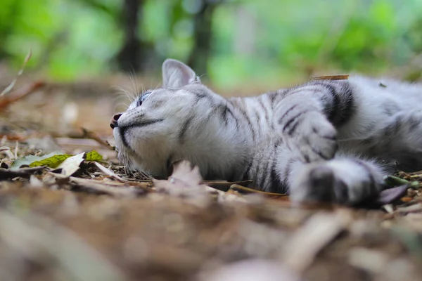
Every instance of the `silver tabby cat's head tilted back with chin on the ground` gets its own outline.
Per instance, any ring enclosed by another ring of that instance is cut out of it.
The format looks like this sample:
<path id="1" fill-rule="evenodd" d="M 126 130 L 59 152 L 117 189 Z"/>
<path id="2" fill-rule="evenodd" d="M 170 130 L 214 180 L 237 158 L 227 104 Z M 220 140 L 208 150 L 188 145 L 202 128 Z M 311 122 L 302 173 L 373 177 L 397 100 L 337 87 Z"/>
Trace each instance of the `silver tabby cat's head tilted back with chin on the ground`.
<path id="1" fill-rule="evenodd" d="M 156 177 L 167 176 L 179 159 L 200 166 L 203 175 L 210 173 L 212 157 L 231 149 L 222 126 L 226 103 L 201 84 L 190 67 L 165 60 L 162 88 L 141 93 L 112 118 L 119 159 Z"/>

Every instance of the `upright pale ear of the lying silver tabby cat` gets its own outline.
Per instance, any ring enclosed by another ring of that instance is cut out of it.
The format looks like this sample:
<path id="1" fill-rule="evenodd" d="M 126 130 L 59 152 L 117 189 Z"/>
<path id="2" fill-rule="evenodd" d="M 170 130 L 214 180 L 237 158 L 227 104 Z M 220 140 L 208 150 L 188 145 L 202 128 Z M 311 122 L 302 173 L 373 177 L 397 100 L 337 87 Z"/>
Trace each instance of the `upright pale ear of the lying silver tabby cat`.
<path id="1" fill-rule="evenodd" d="M 179 60 L 167 58 L 162 63 L 162 86 L 164 88 L 180 88 L 193 81 L 198 81 L 196 73 Z"/>

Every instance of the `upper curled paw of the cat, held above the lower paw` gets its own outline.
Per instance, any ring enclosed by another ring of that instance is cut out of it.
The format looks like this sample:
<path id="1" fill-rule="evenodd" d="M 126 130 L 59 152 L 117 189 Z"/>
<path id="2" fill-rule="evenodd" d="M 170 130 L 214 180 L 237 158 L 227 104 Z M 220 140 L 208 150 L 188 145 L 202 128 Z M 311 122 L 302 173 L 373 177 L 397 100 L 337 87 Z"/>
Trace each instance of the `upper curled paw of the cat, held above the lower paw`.
<path id="1" fill-rule="evenodd" d="M 332 159 L 338 150 L 337 131 L 320 112 L 306 112 L 284 124 L 282 133 L 290 150 L 299 151 L 306 163 Z"/>

